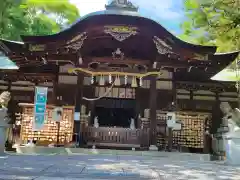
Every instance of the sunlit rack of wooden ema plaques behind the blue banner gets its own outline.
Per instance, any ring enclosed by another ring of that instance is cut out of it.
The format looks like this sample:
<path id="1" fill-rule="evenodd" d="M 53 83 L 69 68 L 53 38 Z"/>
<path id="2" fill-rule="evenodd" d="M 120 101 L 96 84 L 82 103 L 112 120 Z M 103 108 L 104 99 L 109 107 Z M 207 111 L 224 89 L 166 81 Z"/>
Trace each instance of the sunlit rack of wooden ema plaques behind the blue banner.
<path id="1" fill-rule="evenodd" d="M 46 109 L 46 117 L 44 122 L 44 128 L 40 131 L 33 131 L 33 116 L 34 105 L 33 104 L 20 104 L 22 107 L 21 114 L 21 133 L 20 138 L 23 143 L 27 143 L 28 140 L 33 139 L 37 141 L 37 145 L 48 145 L 51 143 L 56 144 L 58 125 L 52 119 L 53 109 L 55 106 L 48 105 Z M 59 143 L 65 144 L 72 141 L 73 126 L 74 126 L 74 107 L 63 106 L 62 120 L 60 121 L 59 129 Z"/>

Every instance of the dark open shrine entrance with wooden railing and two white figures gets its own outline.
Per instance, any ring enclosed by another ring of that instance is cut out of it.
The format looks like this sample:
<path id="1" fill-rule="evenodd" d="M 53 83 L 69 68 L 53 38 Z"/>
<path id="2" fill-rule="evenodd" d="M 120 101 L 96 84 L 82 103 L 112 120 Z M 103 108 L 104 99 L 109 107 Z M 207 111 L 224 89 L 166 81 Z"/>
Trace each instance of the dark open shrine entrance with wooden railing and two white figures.
<path id="1" fill-rule="evenodd" d="M 113 88 L 113 91 L 116 92 L 116 89 Z M 110 94 L 95 101 L 92 123 L 83 132 L 84 142 L 98 148 L 149 147 L 149 129 L 139 128 L 135 98 L 119 94 L 121 97 Z"/>

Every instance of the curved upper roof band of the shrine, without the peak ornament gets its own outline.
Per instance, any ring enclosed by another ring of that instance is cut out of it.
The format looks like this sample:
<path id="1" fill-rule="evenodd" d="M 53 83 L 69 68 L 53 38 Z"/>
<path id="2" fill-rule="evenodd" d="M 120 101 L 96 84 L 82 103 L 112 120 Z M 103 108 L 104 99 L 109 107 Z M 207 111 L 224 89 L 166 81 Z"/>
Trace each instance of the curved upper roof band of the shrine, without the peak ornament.
<path id="1" fill-rule="evenodd" d="M 165 37 L 172 44 L 177 44 L 183 49 L 188 49 L 196 53 L 214 54 L 217 50 L 216 46 L 202 46 L 190 44 L 180 40 L 178 37 L 171 34 L 158 22 L 144 17 L 135 11 L 126 11 L 122 9 L 104 10 L 90 13 L 79 18 L 74 24 L 53 35 L 45 36 L 21 36 L 25 43 L 45 44 L 61 40 L 69 40 L 77 34 L 87 31 L 92 24 L 98 25 L 130 25 L 143 26 L 148 29 L 149 35 L 159 38 Z"/>

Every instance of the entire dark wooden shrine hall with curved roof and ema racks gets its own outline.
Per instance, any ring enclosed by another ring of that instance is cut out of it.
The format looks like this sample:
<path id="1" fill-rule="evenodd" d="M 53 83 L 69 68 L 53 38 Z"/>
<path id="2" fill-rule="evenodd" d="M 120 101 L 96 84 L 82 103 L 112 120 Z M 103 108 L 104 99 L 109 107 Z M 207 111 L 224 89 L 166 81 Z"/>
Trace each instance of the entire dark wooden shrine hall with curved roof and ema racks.
<path id="1" fill-rule="evenodd" d="M 69 143 L 80 133 L 85 146 L 208 152 L 205 131 L 220 126 L 219 103 L 237 106 L 234 84 L 210 78 L 238 52 L 217 54 L 217 47 L 186 43 L 127 0 L 114 0 L 57 34 L 21 37 L 22 42 L 0 40 L 19 67 L 1 71 L 0 87 L 14 101 L 11 112 L 33 116 L 35 86 L 49 87 L 50 109 L 74 107 L 58 140 L 51 128 L 31 132 L 26 126 L 32 120 L 17 117 L 22 141 L 41 141 L 41 134 L 45 142 Z M 181 130 L 167 127 L 168 112 L 176 113 Z M 80 121 L 73 113 L 80 113 Z"/>

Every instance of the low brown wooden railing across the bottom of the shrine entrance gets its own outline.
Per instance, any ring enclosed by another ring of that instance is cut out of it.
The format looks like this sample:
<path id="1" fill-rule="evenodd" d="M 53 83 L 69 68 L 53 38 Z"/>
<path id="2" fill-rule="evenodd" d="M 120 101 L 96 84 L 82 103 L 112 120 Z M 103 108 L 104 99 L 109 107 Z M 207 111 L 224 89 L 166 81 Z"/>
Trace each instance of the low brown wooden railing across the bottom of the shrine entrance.
<path id="1" fill-rule="evenodd" d="M 109 147 L 149 147 L 149 129 L 87 127 L 82 138 L 88 145 Z"/>

